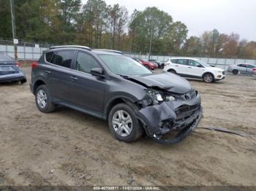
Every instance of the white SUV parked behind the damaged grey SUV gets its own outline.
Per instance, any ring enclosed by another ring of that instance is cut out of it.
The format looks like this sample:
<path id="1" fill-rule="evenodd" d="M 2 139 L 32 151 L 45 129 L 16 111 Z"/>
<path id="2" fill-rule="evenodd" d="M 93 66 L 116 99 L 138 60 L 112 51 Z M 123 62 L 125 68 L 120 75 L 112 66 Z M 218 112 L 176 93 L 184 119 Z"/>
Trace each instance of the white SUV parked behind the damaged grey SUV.
<path id="1" fill-rule="evenodd" d="M 219 69 L 195 58 L 169 58 L 164 71 L 178 74 L 181 77 L 203 79 L 211 83 L 225 79 L 225 70 Z"/>

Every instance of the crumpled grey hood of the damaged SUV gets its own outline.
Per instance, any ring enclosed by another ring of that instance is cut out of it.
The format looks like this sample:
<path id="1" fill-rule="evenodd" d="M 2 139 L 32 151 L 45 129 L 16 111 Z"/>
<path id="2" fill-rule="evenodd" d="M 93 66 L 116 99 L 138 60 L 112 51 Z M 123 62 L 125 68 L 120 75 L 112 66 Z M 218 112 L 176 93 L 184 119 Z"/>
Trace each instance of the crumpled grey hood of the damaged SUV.
<path id="1" fill-rule="evenodd" d="M 192 89 L 191 85 L 182 77 L 171 73 L 150 74 L 143 76 L 129 76 L 148 87 L 159 87 L 160 89 L 167 90 L 173 93 L 187 93 Z"/>

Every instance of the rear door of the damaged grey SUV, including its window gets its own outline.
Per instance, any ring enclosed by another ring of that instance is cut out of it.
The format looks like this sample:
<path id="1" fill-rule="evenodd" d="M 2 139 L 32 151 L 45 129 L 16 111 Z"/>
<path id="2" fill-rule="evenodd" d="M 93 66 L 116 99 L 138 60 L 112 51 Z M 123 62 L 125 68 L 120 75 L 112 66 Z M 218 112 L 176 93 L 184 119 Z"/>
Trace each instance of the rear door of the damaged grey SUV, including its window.
<path id="1" fill-rule="evenodd" d="M 75 52 L 75 50 L 55 51 L 50 59 L 51 63 L 46 61 L 49 64 L 44 65 L 43 72 L 47 75 L 48 88 L 53 98 L 69 101 L 69 82 Z"/>

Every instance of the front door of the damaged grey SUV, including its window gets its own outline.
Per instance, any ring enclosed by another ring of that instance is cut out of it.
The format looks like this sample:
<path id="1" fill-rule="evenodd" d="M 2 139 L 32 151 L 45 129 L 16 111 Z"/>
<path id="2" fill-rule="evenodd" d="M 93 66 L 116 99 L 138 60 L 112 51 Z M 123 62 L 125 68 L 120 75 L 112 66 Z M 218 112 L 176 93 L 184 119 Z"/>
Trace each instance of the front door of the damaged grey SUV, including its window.
<path id="1" fill-rule="evenodd" d="M 86 109 L 87 112 L 102 114 L 105 78 L 95 77 L 90 73 L 91 69 L 102 67 L 92 55 L 83 51 L 78 51 L 74 66 L 72 75 L 69 76 L 72 104 Z"/>

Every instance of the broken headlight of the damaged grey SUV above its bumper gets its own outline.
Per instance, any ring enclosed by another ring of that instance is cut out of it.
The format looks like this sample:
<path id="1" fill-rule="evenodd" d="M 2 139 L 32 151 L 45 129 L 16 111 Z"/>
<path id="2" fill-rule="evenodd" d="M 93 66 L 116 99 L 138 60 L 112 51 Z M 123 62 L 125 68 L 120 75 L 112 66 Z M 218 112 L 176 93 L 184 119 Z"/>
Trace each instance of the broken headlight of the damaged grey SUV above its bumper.
<path id="1" fill-rule="evenodd" d="M 157 90 L 146 89 L 145 91 L 151 98 L 151 101 L 148 101 L 148 103 L 151 102 L 150 104 L 159 104 L 163 101 L 176 100 L 176 98 L 174 98 L 172 95 L 166 95 L 165 93 L 162 93 Z"/>

